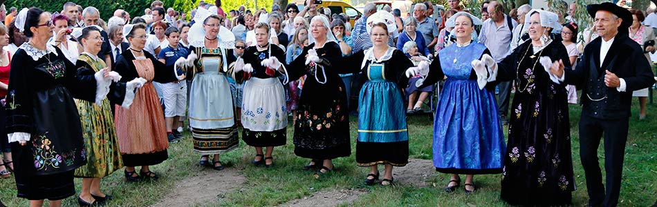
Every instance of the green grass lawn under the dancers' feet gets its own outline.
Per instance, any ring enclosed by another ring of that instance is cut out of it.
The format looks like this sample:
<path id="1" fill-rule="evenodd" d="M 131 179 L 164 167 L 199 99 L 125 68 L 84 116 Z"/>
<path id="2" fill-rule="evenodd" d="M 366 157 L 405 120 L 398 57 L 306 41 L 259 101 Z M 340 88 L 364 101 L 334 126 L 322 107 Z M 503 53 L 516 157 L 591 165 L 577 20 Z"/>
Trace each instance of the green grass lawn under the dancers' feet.
<path id="1" fill-rule="evenodd" d="M 619 206 L 651 206 L 657 199 L 657 105 L 648 105 L 648 117 L 638 120 L 638 101 L 634 99 L 630 118 L 629 137 L 624 159 L 622 188 Z M 588 196 L 584 181 L 584 170 L 579 157 L 579 136 L 577 123 L 581 107 L 571 105 L 571 135 L 573 146 L 573 166 L 577 190 L 573 192 L 573 206 L 585 206 Z M 292 141 L 293 128 L 288 127 L 286 146 L 275 148 L 273 168 L 254 167 L 251 160 L 255 150 L 243 142 L 240 148 L 222 155 L 221 160 L 229 168 L 237 168 L 246 177 L 246 183 L 230 193 L 217 195 L 212 204 L 201 206 L 276 206 L 293 199 L 307 197 L 319 190 L 361 188 L 369 193 L 353 202 L 353 206 L 508 206 L 499 199 L 501 175 L 475 176 L 478 187 L 474 195 L 465 195 L 462 190 L 444 193 L 449 175 L 434 173 L 429 179 L 429 187 L 418 188 L 397 184 L 391 187 L 364 186 L 362 181 L 369 168 L 355 166 L 355 126 L 357 121 L 351 117 L 352 155 L 336 159 L 335 171 L 325 179 L 314 179 L 313 172 L 302 170 L 308 159 L 294 155 Z M 433 121 L 427 116 L 409 117 L 409 138 L 411 158 L 432 158 Z M 507 132 L 505 127 L 505 132 Z M 203 170 L 198 166 L 198 155 L 192 152 L 192 139 L 189 132 L 183 141 L 172 144 L 169 159 L 151 170 L 158 172 L 159 181 L 129 184 L 124 181 L 123 172 L 114 172 L 104 178 L 104 193 L 115 199 L 107 206 L 150 206 L 163 199 L 176 182 L 192 177 Z M 604 163 L 602 147 L 599 150 L 600 163 Z M 604 169 L 604 166 L 601 166 Z M 209 169 L 205 169 L 209 170 Z M 382 170 L 382 168 L 380 168 Z M 603 170 L 604 173 L 604 170 Z M 604 175 L 603 175 L 604 177 Z M 76 179 L 80 190 L 81 179 Z M 28 201 L 16 197 L 13 177 L 0 180 L 0 197 L 8 206 L 28 206 Z M 212 192 L 198 192 L 212 193 Z M 46 202 L 47 204 L 47 202 Z M 340 204 L 349 206 L 349 204 Z M 45 206 L 45 205 L 44 205 Z M 77 195 L 64 200 L 64 206 L 77 206 Z"/>

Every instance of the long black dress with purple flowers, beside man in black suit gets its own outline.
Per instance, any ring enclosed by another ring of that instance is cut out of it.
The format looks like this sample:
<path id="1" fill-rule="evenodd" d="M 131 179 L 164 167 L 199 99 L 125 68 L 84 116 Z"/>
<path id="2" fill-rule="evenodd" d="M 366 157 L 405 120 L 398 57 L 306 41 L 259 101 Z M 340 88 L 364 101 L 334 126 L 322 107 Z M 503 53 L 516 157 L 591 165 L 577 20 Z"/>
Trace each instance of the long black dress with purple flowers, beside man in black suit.
<path id="1" fill-rule="evenodd" d="M 575 190 L 566 85 L 550 81 L 539 57 L 571 70 L 566 48 L 551 40 L 545 48 L 526 41 L 499 63 L 497 79 L 516 84 L 501 181 L 501 198 L 512 205 L 565 205 Z"/>

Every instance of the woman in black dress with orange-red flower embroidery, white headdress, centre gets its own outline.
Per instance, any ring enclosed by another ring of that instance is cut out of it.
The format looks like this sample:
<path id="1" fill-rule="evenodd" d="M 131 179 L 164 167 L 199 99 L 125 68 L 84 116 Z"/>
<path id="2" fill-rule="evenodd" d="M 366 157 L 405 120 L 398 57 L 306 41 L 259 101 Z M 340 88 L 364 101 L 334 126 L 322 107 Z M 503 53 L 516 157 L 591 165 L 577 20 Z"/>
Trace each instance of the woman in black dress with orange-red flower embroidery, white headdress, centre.
<path id="1" fill-rule="evenodd" d="M 310 32 L 315 41 L 290 63 L 288 80 L 308 75 L 297 108 L 295 155 L 312 159 L 304 168 L 320 168 L 315 174 L 319 178 L 333 170 L 332 159 L 351 155 L 349 108 L 335 66 L 342 52 L 329 30 L 329 19 L 313 17 Z"/>

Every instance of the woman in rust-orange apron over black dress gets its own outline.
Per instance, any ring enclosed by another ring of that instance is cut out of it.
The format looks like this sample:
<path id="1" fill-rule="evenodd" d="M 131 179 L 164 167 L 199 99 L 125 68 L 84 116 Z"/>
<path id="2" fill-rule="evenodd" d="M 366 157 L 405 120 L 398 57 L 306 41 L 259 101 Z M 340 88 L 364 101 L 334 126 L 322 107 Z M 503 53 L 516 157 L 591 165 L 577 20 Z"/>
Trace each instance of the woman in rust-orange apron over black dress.
<path id="1" fill-rule="evenodd" d="M 127 24 L 123 27 L 130 47 L 117 59 L 114 70 L 122 77 L 120 82 L 127 82 L 138 77 L 146 79 L 145 85 L 137 90 L 130 108 L 115 106 L 116 134 L 126 166 L 124 174 L 128 181 L 140 179 L 158 179 L 149 166 L 160 164 L 169 155 L 169 141 L 164 114 L 160 100 L 152 82 L 169 83 L 179 79 L 176 70 L 169 70 L 149 52 L 145 52 L 146 26 L 143 23 Z M 176 64 L 178 65 L 178 64 Z M 142 166 L 139 176 L 135 166 Z"/>

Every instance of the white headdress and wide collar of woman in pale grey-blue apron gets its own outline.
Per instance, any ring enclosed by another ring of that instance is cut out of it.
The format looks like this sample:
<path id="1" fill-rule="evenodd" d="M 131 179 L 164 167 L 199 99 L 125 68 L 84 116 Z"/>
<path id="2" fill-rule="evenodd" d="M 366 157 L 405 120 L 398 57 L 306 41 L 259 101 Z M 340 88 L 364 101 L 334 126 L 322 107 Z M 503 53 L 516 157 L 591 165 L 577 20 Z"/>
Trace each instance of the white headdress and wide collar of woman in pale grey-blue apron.
<path id="1" fill-rule="evenodd" d="M 213 13 L 212 11 L 201 7 L 196 10 L 196 14 L 194 15 L 194 25 L 189 28 L 189 33 L 187 34 L 189 45 L 195 47 L 205 46 L 205 30 L 203 29 L 203 22 L 205 22 L 205 19 L 212 16 L 212 14 L 216 15 L 216 12 Z M 221 48 L 235 48 L 235 36 L 228 28 L 219 26 L 219 33 L 216 34 L 216 37 L 219 39 L 219 46 Z"/>

